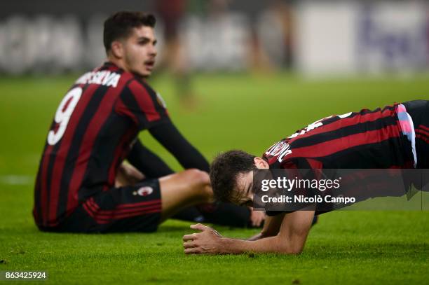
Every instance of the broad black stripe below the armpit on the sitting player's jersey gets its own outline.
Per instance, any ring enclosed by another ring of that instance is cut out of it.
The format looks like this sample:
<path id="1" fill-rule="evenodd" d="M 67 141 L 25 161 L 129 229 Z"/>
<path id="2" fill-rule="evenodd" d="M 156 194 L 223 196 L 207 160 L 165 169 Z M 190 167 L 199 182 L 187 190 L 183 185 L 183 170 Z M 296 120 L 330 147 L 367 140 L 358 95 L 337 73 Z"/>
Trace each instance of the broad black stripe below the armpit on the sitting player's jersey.
<path id="1" fill-rule="evenodd" d="M 82 182 L 85 188 L 79 190 L 79 200 L 86 200 L 95 193 L 100 193 L 102 186 L 105 185 L 109 177 L 109 170 L 114 160 L 115 150 L 121 144 L 125 134 L 129 132 L 130 125 L 133 124 L 128 118 L 119 116 L 114 112 L 104 122 L 90 153 L 90 158 L 95 159 L 88 161 L 87 170 Z M 136 135 L 137 132 L 136 128 Z"/>

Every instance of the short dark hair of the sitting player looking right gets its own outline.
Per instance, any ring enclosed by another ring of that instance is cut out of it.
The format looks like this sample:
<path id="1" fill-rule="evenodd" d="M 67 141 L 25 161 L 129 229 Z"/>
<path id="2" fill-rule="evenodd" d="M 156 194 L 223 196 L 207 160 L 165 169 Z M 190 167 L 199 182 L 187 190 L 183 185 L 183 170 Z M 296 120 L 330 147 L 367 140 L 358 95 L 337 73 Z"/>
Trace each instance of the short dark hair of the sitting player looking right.
<path id="1" fill-rule="evenodd" d="M 106 53 L 111 48 L 111 43 L 130 35 L 132 28 L 147 26 L 155 27 L 154 15 L 143 12 L 121 11 L 111 15 L 104 21 L 103 43 Z"/>

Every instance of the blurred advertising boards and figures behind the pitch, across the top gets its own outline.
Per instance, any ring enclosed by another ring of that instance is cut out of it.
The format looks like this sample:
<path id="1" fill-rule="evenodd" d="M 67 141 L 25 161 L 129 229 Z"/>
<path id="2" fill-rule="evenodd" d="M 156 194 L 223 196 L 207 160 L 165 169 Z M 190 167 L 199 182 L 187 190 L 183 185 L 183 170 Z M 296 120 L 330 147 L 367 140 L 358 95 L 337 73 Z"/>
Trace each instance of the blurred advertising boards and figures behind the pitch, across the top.
<path id="1" fill-rule="evenodd" d="M 305 75 L 414 74 L 429 66 L 426 1 L 8 1 L 0 71 L 57 74 L 104 59 L 102 22 L 115 11 L 157 16 L 158 70 Z"/>

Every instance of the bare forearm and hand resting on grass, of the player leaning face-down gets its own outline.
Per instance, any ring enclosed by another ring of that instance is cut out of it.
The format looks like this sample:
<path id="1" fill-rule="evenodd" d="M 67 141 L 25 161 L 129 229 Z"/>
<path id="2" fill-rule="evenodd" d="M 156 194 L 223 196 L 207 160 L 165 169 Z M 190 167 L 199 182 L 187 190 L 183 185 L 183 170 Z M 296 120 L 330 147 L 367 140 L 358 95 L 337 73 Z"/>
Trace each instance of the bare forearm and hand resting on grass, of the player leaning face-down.
<path id="1" fill-rule="evenodd" d="M 277 235 L 255 241 L 222 237 L 205 225 L 191 225 L 191 228 L 201 230 L 201 232 L 184 235 L 184 252 L 205 254 L 245 253 L 248 251 L 300 253 L 304 249 L 313 216 L 314 211 L 294 211 L 285 214 Z"/>

